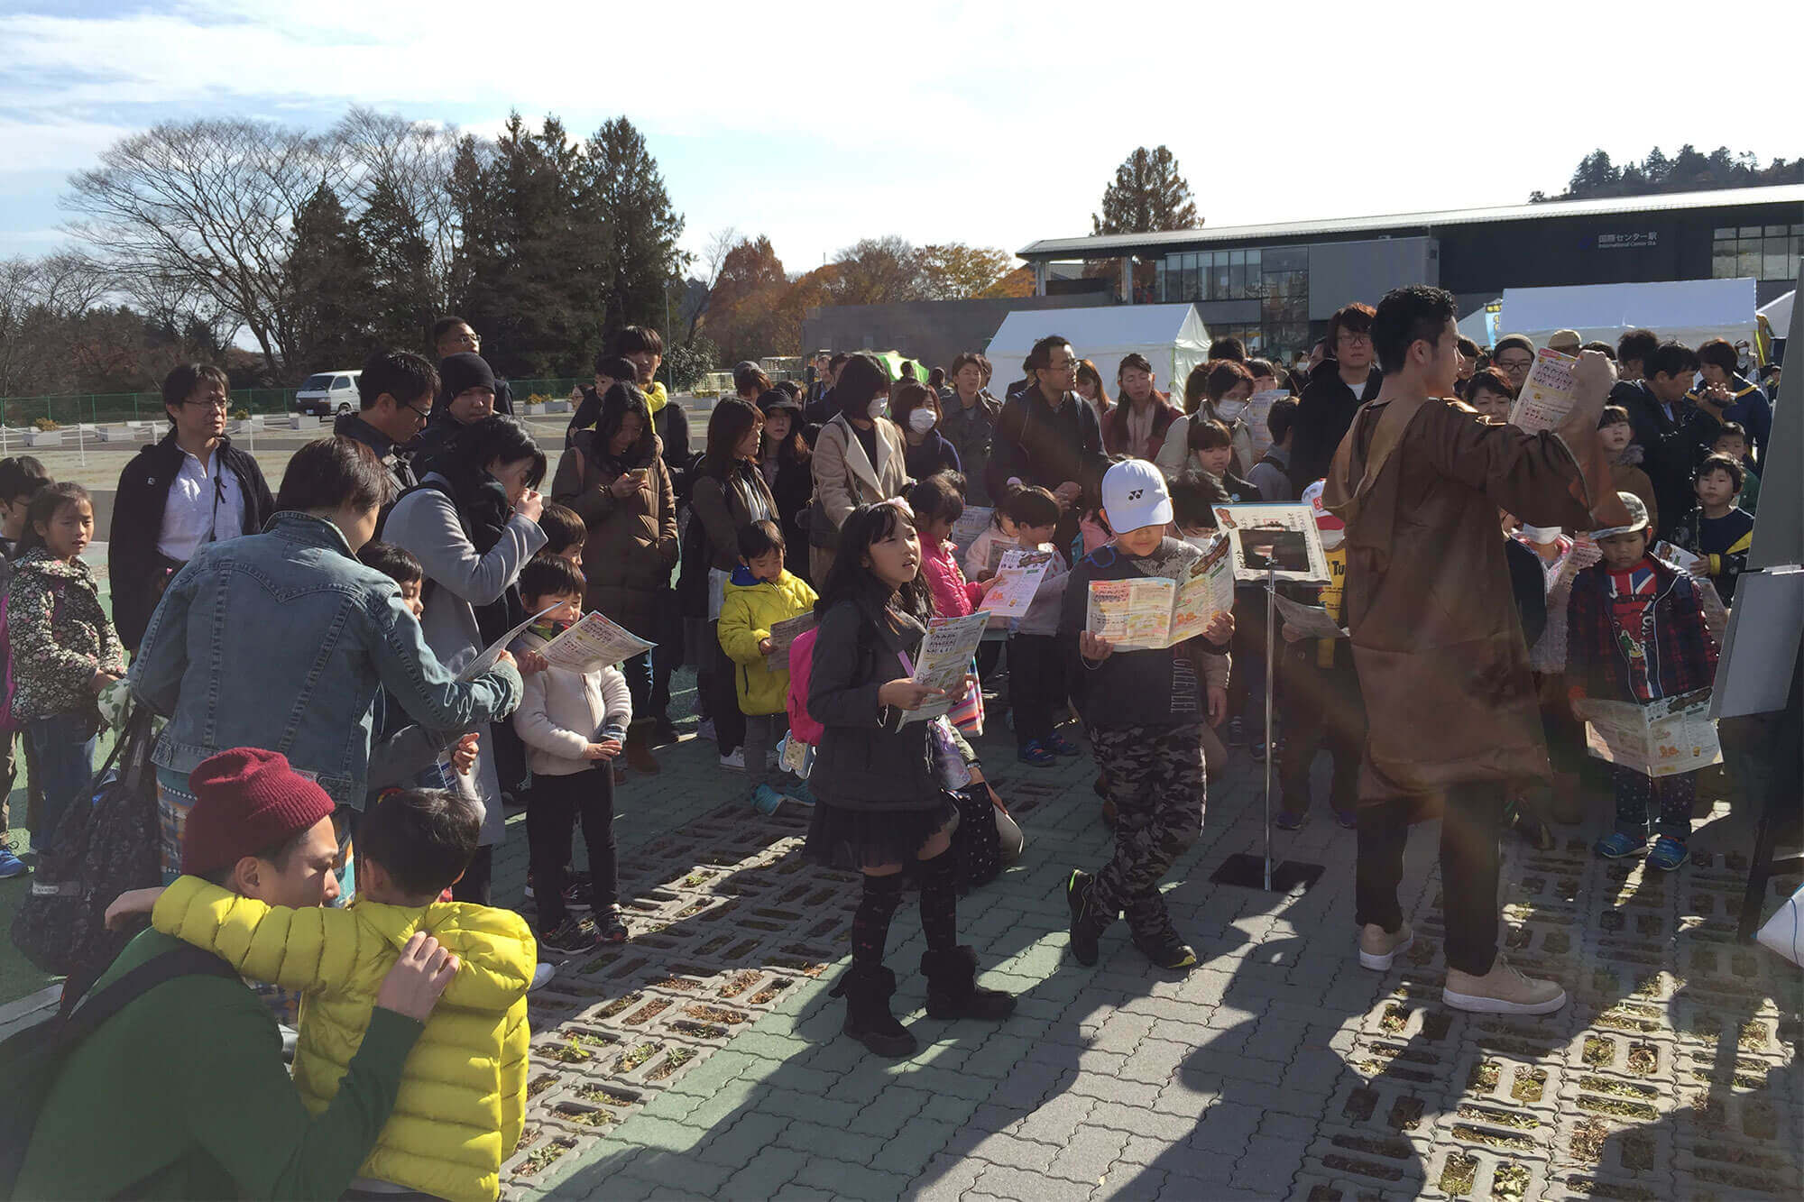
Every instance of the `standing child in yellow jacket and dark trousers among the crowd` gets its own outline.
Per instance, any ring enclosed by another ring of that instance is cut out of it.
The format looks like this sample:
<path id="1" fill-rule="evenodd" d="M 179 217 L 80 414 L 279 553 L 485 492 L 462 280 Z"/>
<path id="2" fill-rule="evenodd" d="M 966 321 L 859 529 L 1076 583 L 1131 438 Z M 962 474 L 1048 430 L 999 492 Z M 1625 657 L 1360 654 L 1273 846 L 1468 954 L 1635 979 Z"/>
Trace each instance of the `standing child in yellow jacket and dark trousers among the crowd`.
<path id="1" fill-rule="evenodd" d="M 803 783 L 783 791 L 770 787 L 765 763 L 772 747 L 788 729 L 788 668 L 770 668 L 770 628 L 790 617 L 812 614 L 815 603 L 808 581 L 783 570 L 783 531 L 776 522 L 740 527 L 740 567 L 727 581 L 720 603 L 720 646 L 738 664 L 734 691 L 745 715 L 745 772 L 752 778 L 752 805 L 774 814 L 785 798 L 812 805 Z"/>

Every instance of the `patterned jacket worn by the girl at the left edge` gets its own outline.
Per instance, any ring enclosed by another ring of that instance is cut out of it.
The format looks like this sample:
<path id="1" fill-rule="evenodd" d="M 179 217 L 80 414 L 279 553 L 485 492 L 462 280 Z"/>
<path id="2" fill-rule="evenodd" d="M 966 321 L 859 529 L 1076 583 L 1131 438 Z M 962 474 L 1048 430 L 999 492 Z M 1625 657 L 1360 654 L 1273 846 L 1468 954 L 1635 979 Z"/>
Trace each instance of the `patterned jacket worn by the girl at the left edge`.
<path id="1" fill-rule="evenodd" d="M 124 648 L 81 559 L 58 559 L 43 547 L 20 556 L 5 597 L 5 632 L 13 717 L 20 722 L 90 713 L 94 673 L 124 673 Z"/>

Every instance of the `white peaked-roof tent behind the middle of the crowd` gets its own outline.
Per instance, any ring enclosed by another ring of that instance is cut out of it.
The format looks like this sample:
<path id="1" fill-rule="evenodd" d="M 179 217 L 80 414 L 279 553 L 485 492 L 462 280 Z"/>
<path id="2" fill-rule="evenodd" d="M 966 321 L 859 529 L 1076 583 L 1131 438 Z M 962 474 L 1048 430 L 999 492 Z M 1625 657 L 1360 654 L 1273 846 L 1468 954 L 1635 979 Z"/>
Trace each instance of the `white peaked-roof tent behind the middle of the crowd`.
<path id="1" fill-rule="evenodd" d="M 1194 305 L 1099 305 L 1093 309 L 1016 309 L 1003 318 L 985 356 L 996 379 L 1007 384 L 1021 375 L 1021 361 L 1034 343 L 1063 334 L 1079 359 L 1090 359 L 1115 390 L 1122 356 L 1138 350 L 1153 365 L 1160 390 L 1183 390 L 1183 377 L 1209 357 L 1209 330 Z"/>

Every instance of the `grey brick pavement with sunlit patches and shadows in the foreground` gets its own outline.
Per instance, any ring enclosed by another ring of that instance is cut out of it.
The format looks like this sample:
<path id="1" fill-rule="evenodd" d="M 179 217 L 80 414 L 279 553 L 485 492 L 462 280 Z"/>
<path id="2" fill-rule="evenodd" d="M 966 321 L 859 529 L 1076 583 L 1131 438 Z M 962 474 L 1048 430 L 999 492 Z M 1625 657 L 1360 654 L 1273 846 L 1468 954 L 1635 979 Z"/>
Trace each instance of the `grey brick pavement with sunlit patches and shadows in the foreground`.
<path id="1" fill-rule="evenodd" d="M 841 1038 L 826 987 L 857 879 L 805 865 L 806 816 L 756 818 L 743 778 L 686 738 L 619 794 L 633 942 L 532 996 L 503 1197 L 1799 1197 L 1800 975 L 1734 942 L 1748 832 L 1726 807 L 1671 875 L 1591 859 L 1591 830 L 1546 854 L 1506 837 L 1505 946 L 1573 1002 L 1486 1018 L 1440 1003 L 1432 827 L 1402 892 L 1418 942 L 1387 975 L 1353 957 L 1353 843 L 1326 812 L 1277 836 L 1328 865 L 1306 895 L 1209 883 L 1257 843 L 1245 753 L 1167 883 L 1200 967 L 1160 973 L 1118 928 L 1075 966 L 1063 875 L 1109 846 L 1090 762 L 1019 767 L 1007 733 L 980 751 L 1028 846 L 960 917 L 983 980 L 1019 994 L 1012 1020 L 924 1016 L 906 904 L 889 962 L 922 1052 L 880 1061 Z M 521 834 L 498 857 L 503 902 Z"/>

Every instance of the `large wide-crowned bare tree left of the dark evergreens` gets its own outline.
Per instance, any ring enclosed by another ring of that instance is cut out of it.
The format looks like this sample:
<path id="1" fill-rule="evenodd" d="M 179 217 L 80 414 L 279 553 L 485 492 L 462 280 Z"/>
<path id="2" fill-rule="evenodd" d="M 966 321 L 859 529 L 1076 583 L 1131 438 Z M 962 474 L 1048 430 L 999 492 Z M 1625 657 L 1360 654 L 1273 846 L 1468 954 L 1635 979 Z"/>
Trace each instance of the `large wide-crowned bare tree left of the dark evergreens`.
<path id="1" fill-rule="evenodd" d="M 186 280 L 242 321 L 271 374 L 292 341 L 294 215 L 343 168 L 328 139 L 267 121 L 157 125 L 69 179 L 70 231 L 119 280 Z"/>

